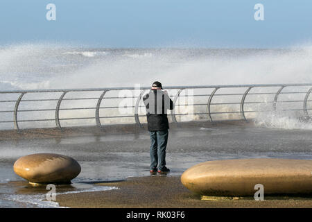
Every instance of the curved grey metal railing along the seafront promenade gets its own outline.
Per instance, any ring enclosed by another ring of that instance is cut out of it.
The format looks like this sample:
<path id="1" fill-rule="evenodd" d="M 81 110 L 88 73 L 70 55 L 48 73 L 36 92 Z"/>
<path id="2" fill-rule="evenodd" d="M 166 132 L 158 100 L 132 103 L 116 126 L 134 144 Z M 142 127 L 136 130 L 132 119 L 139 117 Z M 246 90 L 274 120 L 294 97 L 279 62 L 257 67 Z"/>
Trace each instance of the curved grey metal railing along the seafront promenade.
<path id="1" fill-rule="evenodd" d="M 278 87 L 277 92 L 250 92 L 251 89 L 255 88 L 268 88 L 268 87 Z M 307 90 L 299 91 L 299 92 L 283 92 L 283 90 L 286 87 L 309 87 Z M 220 91 L 220 89 L 230 89 L 230 88 L 245 88 L 245 91 L 243 93 L 223 93 L 223 94 L 217 94 L 217 92 Z M 99 128 L 103 127 L 103 124 L 101 123 L 101 119 L 104 118 L 125 118 L 130 117 L 135 119 L 135 123 L 138 126 L 141 126 L 139 117 L 145 117 L 144 114 L 139 114 L 138 109 L 142 107 L 142 105 L 139 105 L 141 102 L 141 98 L 144 95 L 144 92 L 148 92 L 148 89 L 150 87 L 141 87 L 140 93 L 138 96 L 125 96 L 125 97 L 119 97 L 119 96 L 106 96 L 107 92 L 113 92 L 113 91 L 120 91 L 120 90 L 135 90 L 135 87 L 110 87 L 110 88 L 92 88 L 92 89 L 36 89 L 36 90 L 11 90 L 11 91 L 0 91 L 0 96 L 3 94 L 6 95 L 12 95 L 17 94 L 17 99 L 7 99 L 7 100 L 0 100 L 0 108 L 5 107 L 6 103 L 15 103 L 14 110 L 0 110 L 0 114 L 3 113 L 12 113 L 13 117 L 12 119 L 3 120 L 0 119 L 0 123 L 13 123 L 14 128 L 16 130 L 19 130 L 19 123 L 21 122 L 32 122 L 32 121 L 55 121 L 55 126 L 57 128 L 62 128 L 60 121 L 61 120 L 78 120 L 78 119 L 95 119 L 96 126 Z M 250 112 L 269 112 L 269 111 L 275 111 L 277 109 L 277 103 L 296 103 L 296 102 L 302 102 L 303 106 L 300 109 L 290 109 L 291 111 L 302 111 L 303 117 L 309 119 L 309 109 L 308 108 L 308 102 L 311 102 L 309 100 L 309 95 L 312 91 L 312 83 L 306 83 L 306 84 L 266 84 L 266 85 L 198 85 L 198 86 L 171 86 L 166 87 L 166 89 L 176 89 L 177 93 L 175 95 L 171 95 L 171 98 L 173 99 L 173 103 L 177 102 L 177 99 L 180 96 L 189 96 L 187 94 L 181 95 L 181 92 L 185 89 L 211 89 L 212 92 L 209 94 L 193 94 L 191 96 L 195 97 L 201 97 L 206 98 L 205 103 L 193 103 L 191 105 L 193 106 L 206 106 L 206 112 L 194 112 L 193 114 L 198 115 L 206 115 L 207 120 L 214 121 L 213 115 L 214 114 L 240 114 L 241 120 L 248 121 L 248 119 L 245 117 L 246 113 Z M 101 92 L 100 96 L 96 97 L 86 97 L 86 98 L 65 98 L 69 92 Z M 60 93 L 60 96 L 57 99 L 24 99 L 26 94 L 39 94 L 39 93 Z M 294 101 L 278 101 L 278 97 L 281 94 L 304 94 L 303 100 L 294 100 Z M 245 99 L 247 96 L 250 95 L 272 95 L 274 96 L 274 99 L 272 101 L 250 101 L 246 102 Z M 241 96 L 241 100 L 239 102 L 227 102 L 227 103 L 212 103 L 212 99 L 214 99 L 216 96 Z M 132 106 L 134 108 L 135 112 L 130 115 L 123 115 L 123 116 L 100 116 L 100 110 L 101 109 L 116 109 L 119 108 L 119 106 L 108 106 L 108 107 L 101 107 L 101 104 L 105 100 L 109 99 L 122 99 L 122 98 L 128 98 L 128 99 L 135 99 L 135 105 Z M 85 107 L 81 106 L 78 108 L 60 108 L 62 102 L 64 101 L 84 101 L 84 100 L 95 100 L 96 101 L 96 107 Z M 204 99 L 205 100 L 205 99 Z M 55 101 L 57 102 L 55 105 L 55 108 L 46 108 L 46 109 L 40 109 L 40 108 L 31 108 L 26 110 L 19 110 L 19 105 L 21 102 L 43 102 L 43 101 Z M 245 111 L 245 105 L 246 104 L 260 104 L 260 103 L 266 103 L 270 104 L 272 103 L 272 110 L 269 111 L 261 111 L 261 110 L 249 110 Z M 180 104 L 175 104 L 175 108 L 178 107 Z M 184 105 L 190 105 L 190 104 L 184 104 Z M 239 110 L 237 111 L 227 111 L 227 112 L 211 112 L 211 106 L 212 105 L 239 105 Z M 94 110 L 94 117 L 69 117 L 69 118 L 60 118 L 60 110 Z M 53 111 L 55 112 L 55 118 L 51 119 L 18 119 L 18 114 L 21 112 L 39 112 L 39 111 Z M 288 110 L 283 110 L 288 111 Z M 172 121 L 177 123 L 177 116 L 181 115 L 187 115 L 187 114 L 181 114 L 181 113 L 175 113 L 175 109 L 171 112 L 171 118 Z"/>

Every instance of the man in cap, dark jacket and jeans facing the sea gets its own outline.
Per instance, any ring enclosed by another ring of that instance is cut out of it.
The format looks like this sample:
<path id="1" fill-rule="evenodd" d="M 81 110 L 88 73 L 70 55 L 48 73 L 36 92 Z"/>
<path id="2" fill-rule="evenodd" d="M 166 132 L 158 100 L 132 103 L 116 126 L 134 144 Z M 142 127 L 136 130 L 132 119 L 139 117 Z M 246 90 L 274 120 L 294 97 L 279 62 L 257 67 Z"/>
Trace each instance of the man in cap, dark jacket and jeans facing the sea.
<path id="1" fill-rule="evenodd" d="M 168 142 L 167 110 L 173 110 L 173 101 L 162 83 L 154 82 L 150 92 L 143 97 L 146 106 L 148 133 L 150 134 L 150 173 L 168 173 L 166 146 Z"/>

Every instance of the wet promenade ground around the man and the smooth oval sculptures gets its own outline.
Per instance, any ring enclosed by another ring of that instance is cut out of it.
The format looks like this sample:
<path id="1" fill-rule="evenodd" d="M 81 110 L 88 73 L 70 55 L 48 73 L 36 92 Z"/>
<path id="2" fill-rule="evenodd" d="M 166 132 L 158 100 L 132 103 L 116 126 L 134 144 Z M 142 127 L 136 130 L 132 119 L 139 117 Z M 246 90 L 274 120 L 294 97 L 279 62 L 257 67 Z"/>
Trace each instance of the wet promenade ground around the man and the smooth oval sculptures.
<path id="1" fill-rule="evenodd" d="M 28 198 L 28 194 L 42 193 L 40 187 L 29 187 L 24 183 L 12 185 L 12 181 L 21 180 L 13 172 L 12 165 L 19 157 L 33 153 L 68 155 L 80 163 L 82 171 L 72 181 L 75 186 L 67 187 L 66 191 L 83 191 L 85 188 L 80 186 L 86 183 L 119 187 L 110 191 L 60 194 L 57 196 L 60 206 L 312 207 L 312 198 L 272 199 L 265 196 L 266 201 L 263 202 L 200 200 L 200 196 L 192 194 L 180 182 L 180 176 L 186 169 L 208 160 L 254 157 L 311 160 L 311 130 L 259 128 L 254 127 L 252 122 L 244 121 L 204 121 L 179 125 L 171 123 L 169 137 L 166 160 L 171 173 L 168 176 L 151 177 L 148 172 L 150 139 L 145 125 L 143 128 L 129 124 L 105 126 L 103 129 L 0 130 L 0 182 L 3 182 L 0 186 L 0 207 L 2 193 L 13 199 L 10 203 L 3 199 L 8 207 L 19 207 L 15 194 L 23 199 Z M 98 184 L 100 181 L 112 180 L 124 181 Z M 75 188 L 76 185 L 78 188 Z M 26 194 L 20 192 L 24 187 L 28 190 Z M 62 189 L 58 188 L 58 191 Z"/>

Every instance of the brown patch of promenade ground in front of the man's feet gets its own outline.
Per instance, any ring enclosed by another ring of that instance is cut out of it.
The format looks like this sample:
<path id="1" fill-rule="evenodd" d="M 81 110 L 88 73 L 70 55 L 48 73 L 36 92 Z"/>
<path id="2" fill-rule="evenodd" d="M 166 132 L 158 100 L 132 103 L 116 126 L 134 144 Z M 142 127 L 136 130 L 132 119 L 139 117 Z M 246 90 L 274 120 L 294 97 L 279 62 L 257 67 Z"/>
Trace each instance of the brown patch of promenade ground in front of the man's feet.
<path id="1" fill-rule="evenodd" d="M 180 176 L 144 176 L 120 182 L 104 182 L 98 186 L 119 187 L 110 191 L 59 195 L 56 201 L 64 207 L 103 208 L 257 208 L 309 207 L 312 197 L 267 197 L 264 201 L 252 198 L 242 200 L 201 200 L 180 182 Z"/>

